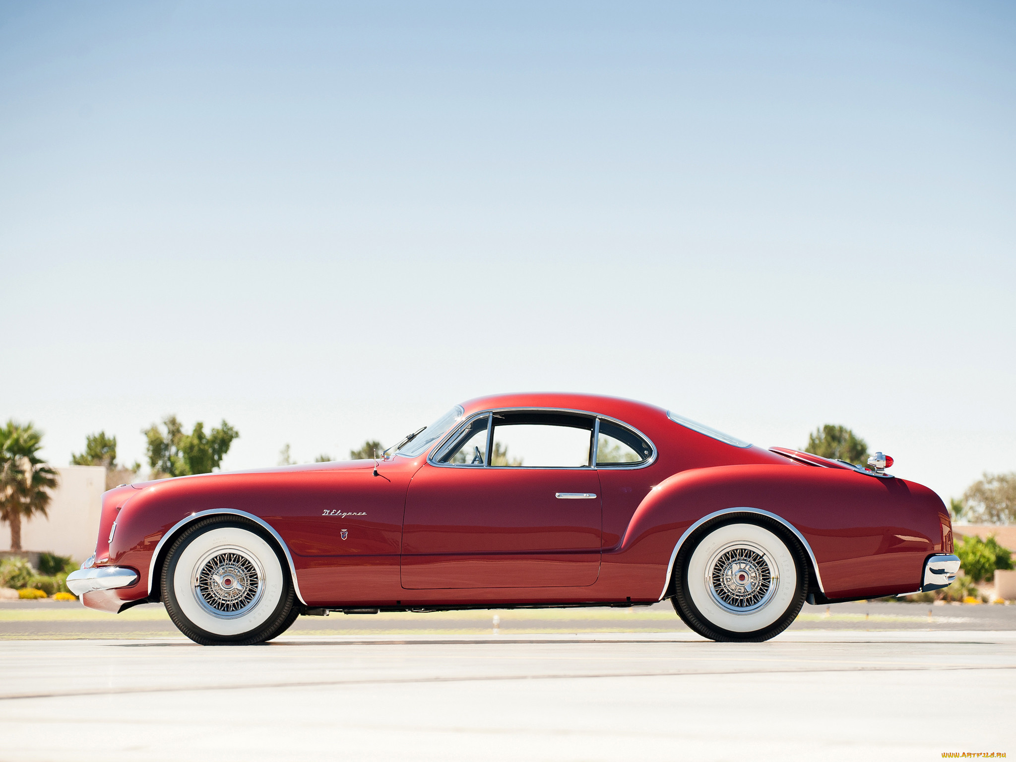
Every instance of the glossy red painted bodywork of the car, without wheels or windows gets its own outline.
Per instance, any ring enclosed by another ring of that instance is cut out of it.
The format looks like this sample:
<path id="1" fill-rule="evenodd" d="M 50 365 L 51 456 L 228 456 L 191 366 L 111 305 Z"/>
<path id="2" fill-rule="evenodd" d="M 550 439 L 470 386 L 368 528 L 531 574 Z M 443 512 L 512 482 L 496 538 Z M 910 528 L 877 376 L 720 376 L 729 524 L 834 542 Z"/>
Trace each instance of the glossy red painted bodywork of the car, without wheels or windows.
<path id="1" fill-rule="evenodd" d="M 378 475 L 367 460 L 118 488 L 104 496 L 97 564 L 131 567 L 140 579 L 85 593 L 84 604 L 112 611 L 157 598 L 158 565 L 174 531 L 230 512 L 277 533 L 309 607 L 657 600 L 686 530 L 738 509 L 765 511 L 795 527 L 833 599 L 912 591 L 925 559 L 951 550 L 948 512 L 920 485 L 792 450 L 735 447 L 671 421 L 659 407 L 545 393 L 463 407 L 466 417 L 515 408 L 608 417 L 638 430 L 655 458 L 642 467 L 467 468 L 432 465 L 425 453 L 381 461 Z M 559 500 L 557 492 L 597 497 Z"/>

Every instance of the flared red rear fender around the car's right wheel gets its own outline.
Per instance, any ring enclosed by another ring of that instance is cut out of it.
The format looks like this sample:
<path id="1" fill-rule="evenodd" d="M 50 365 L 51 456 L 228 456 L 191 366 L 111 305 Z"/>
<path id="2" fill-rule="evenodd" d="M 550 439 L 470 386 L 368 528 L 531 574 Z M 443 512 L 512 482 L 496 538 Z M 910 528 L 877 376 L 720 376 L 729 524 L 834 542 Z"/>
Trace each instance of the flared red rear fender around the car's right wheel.
<path id="1" fill-rule="evenodd" d="M 949 520 L 935 493 L 901 479 L 810 466 L 715 466 L 682 471 L 652 488 L 617 553 L 651 559 L 665 593 L 682 544 L 710 518 L 740 511 L 787 527 L 829 598 L 916 589 L 925 559 L 942 552 Z"/>

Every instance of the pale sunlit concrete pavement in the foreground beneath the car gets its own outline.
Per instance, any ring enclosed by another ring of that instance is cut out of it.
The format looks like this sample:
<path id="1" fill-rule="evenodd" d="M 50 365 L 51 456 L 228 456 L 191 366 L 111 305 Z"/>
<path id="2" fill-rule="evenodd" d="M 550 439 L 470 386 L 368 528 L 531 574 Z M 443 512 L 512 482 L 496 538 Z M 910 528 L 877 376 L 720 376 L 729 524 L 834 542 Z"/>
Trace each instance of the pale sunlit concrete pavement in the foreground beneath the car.
<path id="1" fill-rule="evenodd" d="M 0 760 L 1011 755 L 1014 671 L 999 631 L 8 640 Z"/>

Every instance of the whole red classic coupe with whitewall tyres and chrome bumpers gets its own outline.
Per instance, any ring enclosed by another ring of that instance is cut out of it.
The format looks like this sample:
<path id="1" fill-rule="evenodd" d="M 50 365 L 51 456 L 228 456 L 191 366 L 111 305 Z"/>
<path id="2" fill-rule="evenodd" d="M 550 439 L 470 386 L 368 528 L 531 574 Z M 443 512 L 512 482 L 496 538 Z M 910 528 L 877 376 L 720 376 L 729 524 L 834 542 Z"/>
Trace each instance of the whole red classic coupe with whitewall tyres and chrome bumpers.
<path id="1" fill-rule="evenodd" d="M 949 513 L 870 467 L 762 449 L 627 399 L 506 394 L 456 405 L 375 460 L 107 492 L 84 606 L 163 601 L 203 644 L 300 615 L 647 606 L 760 641 L 805 600 L 948 585 Z"/>

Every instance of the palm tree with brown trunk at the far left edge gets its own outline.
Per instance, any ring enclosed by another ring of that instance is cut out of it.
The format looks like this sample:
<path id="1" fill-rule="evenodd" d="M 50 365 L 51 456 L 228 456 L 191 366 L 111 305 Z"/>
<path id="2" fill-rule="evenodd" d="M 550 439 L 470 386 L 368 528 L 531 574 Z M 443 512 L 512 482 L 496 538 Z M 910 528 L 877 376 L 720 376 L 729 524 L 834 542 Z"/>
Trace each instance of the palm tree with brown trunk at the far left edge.
<path id="1" fill-rule="evenodd" d="M 0 521 L 10 524 L 10 549 L 21 550 L 21 518 L 47 515 L 57 471 L 41 457 L 43 434 L 30 423 L 0 428 Z"/>

